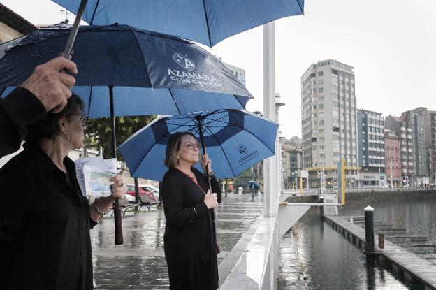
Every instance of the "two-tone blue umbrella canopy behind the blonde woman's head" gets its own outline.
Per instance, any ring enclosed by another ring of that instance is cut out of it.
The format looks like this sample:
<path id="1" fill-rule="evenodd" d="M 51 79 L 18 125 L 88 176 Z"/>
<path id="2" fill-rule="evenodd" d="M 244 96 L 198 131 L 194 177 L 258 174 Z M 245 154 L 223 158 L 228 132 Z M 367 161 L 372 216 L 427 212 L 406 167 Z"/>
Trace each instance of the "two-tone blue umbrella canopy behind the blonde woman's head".
<path id="1" fill-rule="evenodd" d="M 158 117 L 120 147 L 133 177 L 162 180 L 170 134 L 191 131 L 208 148 L 217 178 L 233 178 L 275 154 L 278 124 L 243 110 L 216 110 L 181 116 Z M 200 138 L 201 139 L 201 138 Z M 201 170 L 200 164 L 196 167 Z"/>

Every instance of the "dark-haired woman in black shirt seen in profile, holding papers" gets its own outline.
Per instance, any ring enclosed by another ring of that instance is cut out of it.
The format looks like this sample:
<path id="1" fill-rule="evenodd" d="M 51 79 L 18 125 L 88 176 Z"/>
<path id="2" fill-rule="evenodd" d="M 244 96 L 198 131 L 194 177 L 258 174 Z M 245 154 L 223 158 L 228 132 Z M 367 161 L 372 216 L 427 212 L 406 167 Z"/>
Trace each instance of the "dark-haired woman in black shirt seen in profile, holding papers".
<path id="1" fill-rule="evenodd" d="M 68 152 L 83 147 L 87 115 L 73 94 L 60 113 L 27 126 L 24 151 L 0 170 L 0 289 L 93 289 L 89 229 L 126 193 L 89 205 Z"/>

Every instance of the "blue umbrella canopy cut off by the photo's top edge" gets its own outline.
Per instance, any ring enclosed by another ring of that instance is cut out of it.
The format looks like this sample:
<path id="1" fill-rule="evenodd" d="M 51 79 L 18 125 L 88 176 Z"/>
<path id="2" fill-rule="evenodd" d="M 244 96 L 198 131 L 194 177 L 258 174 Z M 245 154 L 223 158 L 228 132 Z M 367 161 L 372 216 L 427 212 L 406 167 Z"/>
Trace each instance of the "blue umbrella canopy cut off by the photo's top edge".
<path id="1" fill-rule="evenodd" d="M 73 13 L 80 0 L 53 0 Z M 88 0 L 89 24 L 131 24 L 212 47 L 220 41 L 282 17 L 303 14 L 304 0 Z"/>

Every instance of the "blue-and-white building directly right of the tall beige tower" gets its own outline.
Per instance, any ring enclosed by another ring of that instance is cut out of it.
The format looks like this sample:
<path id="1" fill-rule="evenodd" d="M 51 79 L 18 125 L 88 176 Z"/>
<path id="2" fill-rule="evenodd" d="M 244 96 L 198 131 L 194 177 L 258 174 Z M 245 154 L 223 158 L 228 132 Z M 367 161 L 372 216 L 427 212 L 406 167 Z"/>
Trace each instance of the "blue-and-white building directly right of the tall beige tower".
<path id="1" fill-rule="evenodd" d="M 386 184 L 384 176 L 384 117 L 382 113 L 357 110 L 358 164 L 363 187 Z"/>

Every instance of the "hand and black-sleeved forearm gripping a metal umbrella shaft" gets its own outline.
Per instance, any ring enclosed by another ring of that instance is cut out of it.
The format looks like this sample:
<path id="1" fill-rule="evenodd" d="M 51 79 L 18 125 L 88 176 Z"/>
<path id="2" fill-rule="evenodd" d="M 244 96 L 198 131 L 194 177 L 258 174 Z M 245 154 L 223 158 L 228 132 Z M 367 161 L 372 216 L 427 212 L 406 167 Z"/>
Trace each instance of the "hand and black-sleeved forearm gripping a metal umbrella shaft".
<path id="1" fill-rule="evenodd" d="M 59 113 L 71 96 L 77 74 L 73 63 L 57 57 L 36 66 L 30 77 L 0 101 L 0 157 L 20 148 L 26 126 L 45 117 L 48 111 Z"/>

